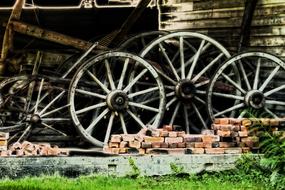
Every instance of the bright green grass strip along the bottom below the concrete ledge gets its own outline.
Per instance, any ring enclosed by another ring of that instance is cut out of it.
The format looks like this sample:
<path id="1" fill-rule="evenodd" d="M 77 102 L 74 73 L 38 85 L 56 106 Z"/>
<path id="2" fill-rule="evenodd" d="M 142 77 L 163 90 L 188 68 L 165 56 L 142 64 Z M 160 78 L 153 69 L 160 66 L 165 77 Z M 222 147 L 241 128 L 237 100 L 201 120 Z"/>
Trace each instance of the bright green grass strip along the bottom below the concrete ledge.
<path id="1" fill-rule="evenodd" d="M 241 176 L 233 173 L 214 173 L 196 176 L 164 176 L 118 178 L 102 176 L 84 176 L 79 178 L 65 178 L 61 176 L 26 177 L 16 180 L 2 179 L 0 189 L 38 190 L 38 189 L 269 189 L 262 176 L 252 179 L 250 176 Z"/>

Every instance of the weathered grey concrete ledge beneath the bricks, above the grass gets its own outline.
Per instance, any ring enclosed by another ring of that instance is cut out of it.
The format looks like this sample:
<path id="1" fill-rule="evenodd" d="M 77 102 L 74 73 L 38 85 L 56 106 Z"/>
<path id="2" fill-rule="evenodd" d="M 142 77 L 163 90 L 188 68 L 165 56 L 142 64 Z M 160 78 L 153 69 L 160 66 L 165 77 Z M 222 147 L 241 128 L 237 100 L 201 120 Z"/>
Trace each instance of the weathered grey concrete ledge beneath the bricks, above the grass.
<path id="1" fill-rule="evenodd" d="M 0 177 L 17 178 L 42 174 L 60 174 L 69 177 L 89 174 L 126 176 L 134 173 L 153 176 L 173 174 L 176 169 L 193 174 L 232 169 L 240 157 L 240 154 L 8 157 L 0 158 Z"/>

